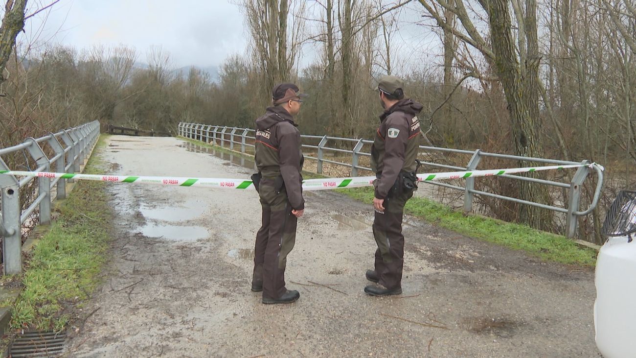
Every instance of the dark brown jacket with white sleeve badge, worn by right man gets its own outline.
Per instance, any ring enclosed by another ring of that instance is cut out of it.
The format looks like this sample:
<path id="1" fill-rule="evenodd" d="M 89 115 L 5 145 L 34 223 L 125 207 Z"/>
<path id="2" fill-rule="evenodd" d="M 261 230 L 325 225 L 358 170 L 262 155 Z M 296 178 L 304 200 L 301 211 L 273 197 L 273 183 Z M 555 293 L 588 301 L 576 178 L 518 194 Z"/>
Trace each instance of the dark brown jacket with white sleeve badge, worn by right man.
<path id="1" fill-rule="evenodd" d="M 420 146 L 422 104 L 402 99 L 380 116 L 380 127 L 371 147 L 371 169 L 375 171 L 375 197 L 384 199 L 401 171 L 415 171 Z"/>

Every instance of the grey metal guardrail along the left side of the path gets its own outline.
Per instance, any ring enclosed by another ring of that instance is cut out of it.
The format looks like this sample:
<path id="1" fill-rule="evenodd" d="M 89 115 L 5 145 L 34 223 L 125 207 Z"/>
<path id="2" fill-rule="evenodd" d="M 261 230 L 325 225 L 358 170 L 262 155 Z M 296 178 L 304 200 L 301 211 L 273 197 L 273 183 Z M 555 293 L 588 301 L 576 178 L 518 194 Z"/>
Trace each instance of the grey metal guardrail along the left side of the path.
<path id="1" fill-rule="evenodd" d="M 38 166 L 32 171 L 76 173 L 80 171 L 81 164 L 88 159 L 89 152 L 98 137 L 99 122 L 95 120 L 79 127 L 50 133 L 38 139 L 27 138 L 21 144 L 0 149 L 0 169 L 15 169 L 6 165 L 2 159 L 3 155 L 22 152 L 27 161 L 29 161 L 28 153 L 31 160 Z M 44 146 L 45 144 L 48 148 Z M 53 156 L 47 157 L 45 150 L 53 153 Z M 38 196 L 29 207 L 22 210 L 20 189 L 32 180 L 37 180 Z M 18 180 L 13 175 L 0 175 L 0 187 L 2 189 L 0 233 L 3 236 L 4 275 L 14 275 L 22 272 L 22 224 L 36 210 L 39 211 L 39 224 L 48 224 L 51 221 L 52 199 L 66 197 L 66 179 L 52 181 L 46 176 L 29 176 Z M 55 198 L 51 197 L 53 188 L 56 192 Z"/>

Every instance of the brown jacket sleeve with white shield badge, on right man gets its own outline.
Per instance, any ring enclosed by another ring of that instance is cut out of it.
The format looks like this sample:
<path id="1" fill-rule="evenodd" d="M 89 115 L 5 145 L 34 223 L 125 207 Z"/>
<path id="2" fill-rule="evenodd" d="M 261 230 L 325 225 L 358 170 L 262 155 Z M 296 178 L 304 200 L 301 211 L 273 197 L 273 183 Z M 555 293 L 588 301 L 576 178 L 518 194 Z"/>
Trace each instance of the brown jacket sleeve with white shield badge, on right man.
<path id="1" fill-rule="evenodd" d="M 375 197 L 385 199 L 389 194 L 389 190 L 397 180 L 397 175 L 404 166 L 404 152 L 406 151 L 406 141 L 408 140 L 408 125 L 406 120 L 399 113 L 392 113 L 386 119 L 387 133 L 384 140 L 384 169 L 380 176 L 379 183 L 375 189 Z M 397 132 L 397 136 L 391 138 L 391 135 Z"/>

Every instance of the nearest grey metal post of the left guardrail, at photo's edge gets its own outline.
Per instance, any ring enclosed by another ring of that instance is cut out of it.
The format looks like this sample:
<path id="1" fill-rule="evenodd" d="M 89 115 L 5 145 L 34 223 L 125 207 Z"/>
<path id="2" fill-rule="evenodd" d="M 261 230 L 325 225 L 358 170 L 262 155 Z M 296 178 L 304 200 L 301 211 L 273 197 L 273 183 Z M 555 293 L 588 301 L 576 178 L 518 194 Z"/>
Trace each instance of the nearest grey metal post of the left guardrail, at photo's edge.
<path id="1" fill-rule="evenodd" d="M 0 158 L 0 168 L 11 170 Z M 22 233 L 20 233 L 20 184 L 13 175 L 0 175 L 2 188 L 2 254 L 4 275 L 22 273 Z"/>

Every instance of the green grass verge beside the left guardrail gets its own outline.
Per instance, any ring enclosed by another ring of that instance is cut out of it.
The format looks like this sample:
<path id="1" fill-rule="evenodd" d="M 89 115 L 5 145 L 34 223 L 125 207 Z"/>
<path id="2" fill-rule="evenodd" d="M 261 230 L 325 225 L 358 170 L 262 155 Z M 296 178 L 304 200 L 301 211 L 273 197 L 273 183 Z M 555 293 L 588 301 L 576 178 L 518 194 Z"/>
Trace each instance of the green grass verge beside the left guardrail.
<path id="1" fill-rule="evenodd" d="M 96 150 L 106 146 L 104 138 Z M 84 172 L 97 173 L 103 166 L 93 155 Z M 60 331 L 73 318 L 65 308 L 88 298 L 99 284 L 112 218 L 104 183 L 80 180 L 56 206 L 59 218 L 25 264 L 24 290 L 13 306 L 11 329 Z"/>

